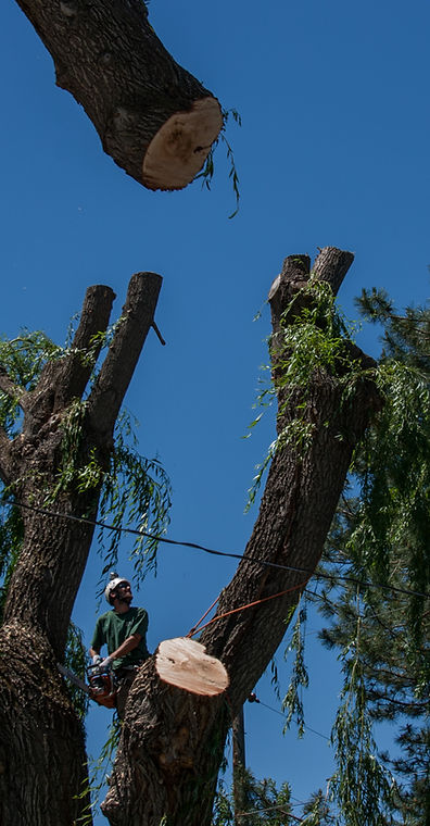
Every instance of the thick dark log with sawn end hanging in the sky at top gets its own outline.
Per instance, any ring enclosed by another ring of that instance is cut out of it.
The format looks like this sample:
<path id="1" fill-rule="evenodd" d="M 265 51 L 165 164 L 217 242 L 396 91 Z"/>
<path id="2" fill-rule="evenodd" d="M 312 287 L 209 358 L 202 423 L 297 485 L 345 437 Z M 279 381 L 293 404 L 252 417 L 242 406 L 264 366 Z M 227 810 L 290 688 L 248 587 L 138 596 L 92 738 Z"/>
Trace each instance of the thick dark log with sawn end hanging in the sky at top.
<path id="1" fill-rule="evenodd" d="M 17 0 L 104 151 L 149 189 L 181 189 L 223 126 L 218 101 L 166 51 L 142 0 Z"/>

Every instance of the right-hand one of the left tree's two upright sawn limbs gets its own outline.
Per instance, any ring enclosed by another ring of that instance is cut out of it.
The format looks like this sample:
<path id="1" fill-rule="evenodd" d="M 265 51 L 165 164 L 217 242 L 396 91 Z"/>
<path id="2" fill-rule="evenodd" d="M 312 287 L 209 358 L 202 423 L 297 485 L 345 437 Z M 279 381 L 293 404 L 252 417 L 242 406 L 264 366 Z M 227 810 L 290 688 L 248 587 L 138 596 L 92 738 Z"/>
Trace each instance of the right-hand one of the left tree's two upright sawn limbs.
<path id="1" fill-rule="evenodd" d="M 116 416 L 152 327 L 162 277 L 135 273 L 126 303 L 99 377 L 89 398 L 89 417 L 94 431 L 112 435 Z"/>

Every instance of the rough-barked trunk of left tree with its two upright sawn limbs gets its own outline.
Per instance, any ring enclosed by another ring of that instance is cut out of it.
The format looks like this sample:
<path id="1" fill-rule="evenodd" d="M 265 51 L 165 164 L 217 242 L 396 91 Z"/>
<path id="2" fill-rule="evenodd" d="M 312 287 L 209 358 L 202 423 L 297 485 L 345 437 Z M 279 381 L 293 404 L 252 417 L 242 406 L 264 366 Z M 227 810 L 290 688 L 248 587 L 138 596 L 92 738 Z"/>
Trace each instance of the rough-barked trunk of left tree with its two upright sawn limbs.
<path id="1" fill-rule="evenodd" d="M 90 455 L 106 466 L 115 418 L 160 287 L 154 273 L 131 278 L 122 321 L 89 395 L 79 443 L 73 446 L 80 466 Z M 18 502 L 36 509 L 22 508 L 24 541 L 0 630 L 0 822 L 15 826 L 73 826 L 86 803 L 76 798 L 85 788 L 84 735 L 56 661 L 64 654 L 93 533 L 64 516 L 94 518 L 100 489 L 83 493 L 72 484 L 53 503 L 47 505 L 47 497 L 61 475 L 64 422 L 88 384 L 101 346 L 93 337 L 105 331 L 113 299 L 108 287 L 89 288 L 69 352 L 47 363 L 35 390 L 21 388 L 22 434 L 10 441 L 2 431 L 0 442 L 3 481 Z M 1 389 L 14 393 L 4 375 L 3 370 Z M 59 515 L 38 512 L 47 506 Z"/>

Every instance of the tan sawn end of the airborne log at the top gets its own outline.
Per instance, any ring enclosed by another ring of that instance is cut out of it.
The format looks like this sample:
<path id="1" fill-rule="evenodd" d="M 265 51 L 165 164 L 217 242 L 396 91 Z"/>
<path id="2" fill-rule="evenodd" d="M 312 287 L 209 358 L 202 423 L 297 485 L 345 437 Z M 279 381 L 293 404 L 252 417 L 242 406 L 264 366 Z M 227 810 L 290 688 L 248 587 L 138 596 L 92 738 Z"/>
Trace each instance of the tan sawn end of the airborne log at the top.
<path id="1" fill-rule="evenodd" d="M 189 112 L 172 115 L 149 145 L 142 183 L 148 189 L 184 189 L 202 168 L 223 127 L 218 101 L 197 100 Z"/>

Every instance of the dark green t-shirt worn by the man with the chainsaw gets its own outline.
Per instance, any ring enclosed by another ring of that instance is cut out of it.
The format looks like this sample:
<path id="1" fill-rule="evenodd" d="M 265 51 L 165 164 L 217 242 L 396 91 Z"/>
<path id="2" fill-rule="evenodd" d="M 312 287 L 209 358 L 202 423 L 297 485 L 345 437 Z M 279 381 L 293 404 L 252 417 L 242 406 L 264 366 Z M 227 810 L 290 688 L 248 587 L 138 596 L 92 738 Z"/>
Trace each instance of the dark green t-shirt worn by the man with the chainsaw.
<path id="1" fill-rule="evenodd" d="M 92 637 L 91 648 L 100 651 L 102 646 L 108 646 L 108 652 L 116 651 L 132 634 L 140 634 L 139 644 L 125 656 L 114 660 L 113 668 L 122 668 L 125 665 L 136 665 L 147 660 L 150 653 L 147 648 L 148 613 L 144 608 L 129 608 L 125 614 L 116 614 L 108 611 L 99 616 Z"/>

